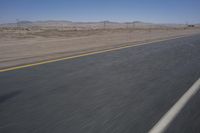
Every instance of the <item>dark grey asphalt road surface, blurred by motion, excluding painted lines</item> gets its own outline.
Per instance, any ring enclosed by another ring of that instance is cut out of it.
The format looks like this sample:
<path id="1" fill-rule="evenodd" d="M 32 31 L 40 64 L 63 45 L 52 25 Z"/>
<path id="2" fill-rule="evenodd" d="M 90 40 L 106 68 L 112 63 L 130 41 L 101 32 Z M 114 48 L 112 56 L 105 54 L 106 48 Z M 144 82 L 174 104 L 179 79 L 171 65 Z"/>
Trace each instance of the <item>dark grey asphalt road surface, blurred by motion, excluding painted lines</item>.
<path id="1" fill-rule="evenodd" d="M 200 77 L 200 35 L 0 73 L 0 133 L 145 133 Z M 166 132 L 200 132 L 200 92 Z"/>

